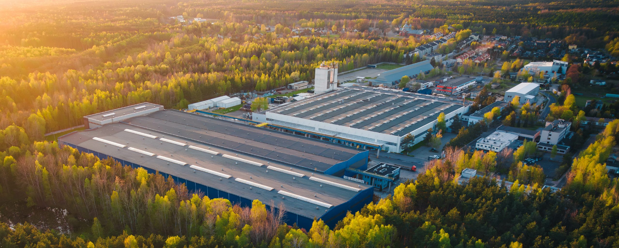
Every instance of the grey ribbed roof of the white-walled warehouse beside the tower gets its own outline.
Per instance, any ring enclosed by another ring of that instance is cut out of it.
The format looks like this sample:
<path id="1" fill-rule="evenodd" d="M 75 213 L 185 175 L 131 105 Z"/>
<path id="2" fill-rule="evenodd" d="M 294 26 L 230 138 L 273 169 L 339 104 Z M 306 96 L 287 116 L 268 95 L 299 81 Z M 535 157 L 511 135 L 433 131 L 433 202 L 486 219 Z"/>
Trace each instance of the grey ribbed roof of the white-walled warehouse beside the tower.
<path id="1" fill-rule="evenodd" d="M 267 112 L 403 136 L 436 120 L 440 112 L 449 114 L 463 107 L 443 98 L 438 101 L 385 88 L 345 88 Z"/>

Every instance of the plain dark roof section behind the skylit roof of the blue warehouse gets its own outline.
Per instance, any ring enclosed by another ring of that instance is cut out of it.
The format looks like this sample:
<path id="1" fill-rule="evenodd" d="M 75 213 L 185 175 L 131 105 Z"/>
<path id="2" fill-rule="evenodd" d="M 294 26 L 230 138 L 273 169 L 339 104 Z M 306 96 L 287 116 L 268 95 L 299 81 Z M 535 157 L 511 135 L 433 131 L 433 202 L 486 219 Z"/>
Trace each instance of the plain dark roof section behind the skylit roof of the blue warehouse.
<path id="1" fill-rule="evenodd" d="M 125 122 L 318 172 L 365 151 L 178 110 L 162 110 Z"/>

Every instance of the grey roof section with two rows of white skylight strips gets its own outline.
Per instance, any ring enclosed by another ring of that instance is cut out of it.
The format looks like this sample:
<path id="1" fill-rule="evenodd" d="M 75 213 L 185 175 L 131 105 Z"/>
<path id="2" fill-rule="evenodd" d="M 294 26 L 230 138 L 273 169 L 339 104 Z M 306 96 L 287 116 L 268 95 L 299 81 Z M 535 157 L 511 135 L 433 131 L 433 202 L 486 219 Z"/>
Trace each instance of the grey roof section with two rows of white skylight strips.
<path id="1" fill-rule="evenodd" d="M 309 218 L 321 217 L 332 205 L 368 188 L 126 123 L 77 131 L 60 140 L 246 199 L 273 202 L 274 207 L 284 203 L 288 212 Z"/>

